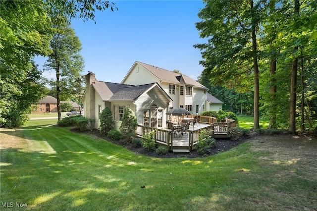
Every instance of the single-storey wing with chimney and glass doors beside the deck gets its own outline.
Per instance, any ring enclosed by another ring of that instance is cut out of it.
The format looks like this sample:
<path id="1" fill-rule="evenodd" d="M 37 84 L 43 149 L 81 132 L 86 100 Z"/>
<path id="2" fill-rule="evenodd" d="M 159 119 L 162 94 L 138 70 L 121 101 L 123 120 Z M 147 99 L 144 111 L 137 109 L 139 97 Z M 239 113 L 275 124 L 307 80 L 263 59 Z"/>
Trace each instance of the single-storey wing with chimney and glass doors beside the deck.
<path id="1" fill-rule="evenodd" d="M 124 108 L 129 107 L 135 113 L 138 124 L 155 128 L 166 128 L 166 112 L 171 98 L 158 83 L 127 85 L 97 81 L 94 73 L 86 75 L 86 90 L 82 100 L 84 115 L 96 119 L 96 128 L 100 127 L 100 116 L 105 107 L 109 107 L 115 129 L 119 129 Z"/>

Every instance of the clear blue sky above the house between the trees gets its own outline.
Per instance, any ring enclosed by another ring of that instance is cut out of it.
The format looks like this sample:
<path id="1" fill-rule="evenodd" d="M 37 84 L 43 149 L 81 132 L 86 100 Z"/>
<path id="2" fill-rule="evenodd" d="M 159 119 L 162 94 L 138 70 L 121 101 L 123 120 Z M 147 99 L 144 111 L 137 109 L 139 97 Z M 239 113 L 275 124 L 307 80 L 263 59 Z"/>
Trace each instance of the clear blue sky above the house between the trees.
<path id="1" fill-rule="evenodd" d="M 110 0 L 111 1 L 111 0 Z M 203 71 L 201 53 L 193 45 L 204 43 L 195 23 L 202 0 L 120 0 L 118 11 L 96 13 L 94 21 L 77 19 L 72 27 L 82 43 L 85 70 L 99 81 L 120 83 L 133 63 L 141 61 L 193 79 Z M 42 69 L 45 59 L 37 57 Z M 45 72 L 45 77 L 54 74 Z"/>

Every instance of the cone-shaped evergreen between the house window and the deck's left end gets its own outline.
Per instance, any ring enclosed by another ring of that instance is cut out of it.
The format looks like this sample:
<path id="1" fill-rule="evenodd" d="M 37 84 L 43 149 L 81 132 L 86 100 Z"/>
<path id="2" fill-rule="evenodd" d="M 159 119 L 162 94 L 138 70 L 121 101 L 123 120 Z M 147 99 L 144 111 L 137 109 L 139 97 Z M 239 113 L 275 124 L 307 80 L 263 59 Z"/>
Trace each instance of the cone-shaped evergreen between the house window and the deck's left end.
<path id="1" fill-rule="evenodd" d="M 137 117 L 134 115 L 134 112 L 130 108 L 125 107 L 120 126 L 122 136 L 128 141 L 132 140 L 135 137 L 135 130 L 137 126 Z"/>

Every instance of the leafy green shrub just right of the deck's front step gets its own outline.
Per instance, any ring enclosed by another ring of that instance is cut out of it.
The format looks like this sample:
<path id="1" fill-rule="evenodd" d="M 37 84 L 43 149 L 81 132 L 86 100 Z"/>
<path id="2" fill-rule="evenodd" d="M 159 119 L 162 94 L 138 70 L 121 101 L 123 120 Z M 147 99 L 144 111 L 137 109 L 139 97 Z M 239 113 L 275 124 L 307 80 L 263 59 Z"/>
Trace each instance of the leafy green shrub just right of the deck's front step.
<path id="1" fill-rule="evenodd" d="M 208 154 L 211 148 L 216 146 L 216 140 L 209 136 L 208 130 L 201 130 L 196 144 L 197 153 L 199 155 Z"/>

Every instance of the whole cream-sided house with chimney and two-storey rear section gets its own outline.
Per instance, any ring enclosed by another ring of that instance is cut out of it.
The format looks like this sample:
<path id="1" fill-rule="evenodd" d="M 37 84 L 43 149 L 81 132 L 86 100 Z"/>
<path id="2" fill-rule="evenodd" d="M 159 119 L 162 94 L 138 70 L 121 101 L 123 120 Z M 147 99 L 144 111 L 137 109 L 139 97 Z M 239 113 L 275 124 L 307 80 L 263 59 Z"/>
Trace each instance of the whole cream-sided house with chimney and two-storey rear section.
<path id="1" fill-rule="evenodd" d="M 120 84 L 97 81 L 89 72 L 82 102 L 85 117 L 97 120 L 96 128 L 103 109 L 109 107 L 118 129 L 126 106 L 134 111 L 138 124 L 166 128 L 166 112 L 171 108 L 183 107 L 193 114 L 221 109 L 222 102 L 207 91 L 186 75 L 136 61 Z"/>

